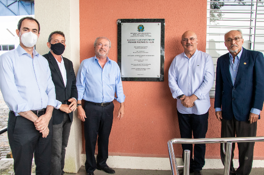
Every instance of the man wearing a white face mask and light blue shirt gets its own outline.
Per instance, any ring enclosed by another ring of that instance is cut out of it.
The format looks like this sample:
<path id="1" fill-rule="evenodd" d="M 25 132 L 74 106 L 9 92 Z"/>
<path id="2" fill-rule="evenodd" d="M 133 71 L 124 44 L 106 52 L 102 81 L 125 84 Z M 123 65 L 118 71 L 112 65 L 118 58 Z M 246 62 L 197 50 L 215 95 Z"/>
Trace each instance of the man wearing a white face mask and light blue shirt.
<path id="1" fill-rule="evenodd" d="M 52 111 L 56 100 L 48 61 L 34 50 L 39 22 L 19 20 L 17 49 L 0 56 L 0 89 L 8 105 L 8 139 L 16 175 L 31 174 L 35 155 L 36 174 L 51 174 Z"/>

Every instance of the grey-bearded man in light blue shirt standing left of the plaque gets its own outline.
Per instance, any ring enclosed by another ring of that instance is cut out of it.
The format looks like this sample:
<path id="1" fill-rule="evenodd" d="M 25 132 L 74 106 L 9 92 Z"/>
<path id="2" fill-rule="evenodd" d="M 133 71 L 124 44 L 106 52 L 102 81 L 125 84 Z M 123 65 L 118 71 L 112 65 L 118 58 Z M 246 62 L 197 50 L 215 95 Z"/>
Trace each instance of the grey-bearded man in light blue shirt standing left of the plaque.
<path id="1" fill-rule="evenodd" d="M 119 119 L 124 115 L 125 100 L 119 66 L 107 57 L 111 41 L 106 37 L 97 37 L 93 46 L 95 56 L 82 61 L 76 81 L 78 118 L 84 121 L 87 175 L 93 175 L 96 168 L 107 173 L 115 173 L 115 170 L 106 164 L 113 123 L 113 100 L 116 99 L 120 103 L 117 116 Z M 85 101 L 84 109 L 81 106 L 82 99 Z M 96 163 L 94 152 L 97 136 Z"/>

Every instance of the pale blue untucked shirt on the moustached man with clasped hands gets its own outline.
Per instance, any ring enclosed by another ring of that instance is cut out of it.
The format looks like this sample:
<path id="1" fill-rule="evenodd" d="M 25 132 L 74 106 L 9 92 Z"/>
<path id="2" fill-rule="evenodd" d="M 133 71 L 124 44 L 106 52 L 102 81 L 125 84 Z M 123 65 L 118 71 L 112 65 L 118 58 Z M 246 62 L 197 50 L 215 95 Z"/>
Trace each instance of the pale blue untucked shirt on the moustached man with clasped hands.
<path id="1" fill-rule="evenodd" d="M 214 64 L 212 57 L 196 50 L 191 58 L 185 53 L 177 55 L 169 69 L 169 86 L 173 98 L 184 94 L 195 95 L 194 106 L 186 108 L 177 100 L 177 109 L 182 114 L 205 114 L 209 110 L 209 92 L 214 83 Z"/>

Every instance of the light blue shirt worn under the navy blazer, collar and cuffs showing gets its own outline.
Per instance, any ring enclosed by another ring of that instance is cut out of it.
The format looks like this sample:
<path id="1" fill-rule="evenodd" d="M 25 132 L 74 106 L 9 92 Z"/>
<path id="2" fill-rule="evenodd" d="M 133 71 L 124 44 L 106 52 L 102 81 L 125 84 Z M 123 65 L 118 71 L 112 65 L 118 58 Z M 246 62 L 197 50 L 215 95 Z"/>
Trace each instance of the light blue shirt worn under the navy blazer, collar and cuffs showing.
<path id="1" fill-rule="evenodd" d="M 234 63 L 233 63 L 233 56 L 229 53 L 229 58 L 230 58 L 229 72 L 230 72 L 230 75 L 231 75 L 231 79 L 232 79 L 233 85 L 235 84 L 236 77 L 237 77 L 237 74 L 238 74 L 238 67 L 239 67 L 239 63 L 240 63 L 242 52 L 243 52 L 243 48 L 238 53 L 238 55 L 235 57 L 235 62 Z M 217 111 L 221 111 L 221 108 L 215 108 L 215 112 L 217 112 Z M 259 109 L 255 109 L 255 108 L 251 108 L 250 112 L 254 113 L 254 114 L 257 114 L 257 115 L 260 114 L 260 110 Z"/>

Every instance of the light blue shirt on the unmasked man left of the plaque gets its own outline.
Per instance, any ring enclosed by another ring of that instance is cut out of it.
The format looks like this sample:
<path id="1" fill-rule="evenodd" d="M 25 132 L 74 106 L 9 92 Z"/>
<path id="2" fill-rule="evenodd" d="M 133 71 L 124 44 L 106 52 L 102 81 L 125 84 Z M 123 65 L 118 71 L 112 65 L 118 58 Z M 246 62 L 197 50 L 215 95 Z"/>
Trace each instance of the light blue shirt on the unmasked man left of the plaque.
<path id="1" fill-rule="evenodd" d="M 104 69 L 95 56 L 83 60 L 78 70 L 76 86 L 78 100 L 94 103 L 112 102 L 114 99 L 123 103 L 125 100 L 119 66 L 108 57 Z"/>

